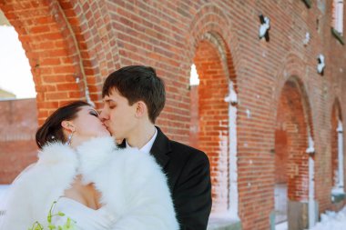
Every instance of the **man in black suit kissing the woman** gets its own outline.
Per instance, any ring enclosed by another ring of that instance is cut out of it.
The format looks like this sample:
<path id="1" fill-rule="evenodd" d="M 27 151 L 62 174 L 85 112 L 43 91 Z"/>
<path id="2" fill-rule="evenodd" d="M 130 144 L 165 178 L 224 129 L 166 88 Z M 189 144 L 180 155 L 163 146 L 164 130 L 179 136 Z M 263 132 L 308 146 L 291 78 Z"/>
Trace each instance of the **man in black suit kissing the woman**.
<path id="1" fill-rule="evenodd" d="M 100 115 L 122 147 L 154 155 L 168 176 L 180 230 L 207 229 L 211 210 L 209 159 L 203 152 L 169 140 L 155 126 L 166 92 L 152 67 L 130 65 L 107 76 Z"/>

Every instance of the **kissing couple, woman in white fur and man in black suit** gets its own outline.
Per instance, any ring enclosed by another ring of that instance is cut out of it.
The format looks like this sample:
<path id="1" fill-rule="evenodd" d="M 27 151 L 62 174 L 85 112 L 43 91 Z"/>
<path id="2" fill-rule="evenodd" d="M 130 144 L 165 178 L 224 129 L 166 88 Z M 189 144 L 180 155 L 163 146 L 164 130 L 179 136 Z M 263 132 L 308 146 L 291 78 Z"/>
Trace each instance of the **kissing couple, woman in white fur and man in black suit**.
<path id="1" fill-rule="evenodd" d="M 155 125 L 166 92 L 154 68 L 118 69 L 102 96 L 100 114 L 76 101 L 38 128 L 38 160 L 11 185 L 0 229 L 207 229 L 209 159 Z"/>

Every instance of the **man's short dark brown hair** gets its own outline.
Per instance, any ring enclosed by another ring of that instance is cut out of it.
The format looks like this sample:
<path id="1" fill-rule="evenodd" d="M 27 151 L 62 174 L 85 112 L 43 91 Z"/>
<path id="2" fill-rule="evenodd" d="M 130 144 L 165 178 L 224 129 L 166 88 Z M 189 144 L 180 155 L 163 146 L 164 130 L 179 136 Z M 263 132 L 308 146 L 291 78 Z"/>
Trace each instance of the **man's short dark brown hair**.
<path id="1" fill-rule="evenodd" d="M 102 89 L 102 97 L 110 95 L 112 90 L 127 98 L 128 105 L 143 101 L 148 107 L 150 121 L 155 124 L 166 102 L 163 80 L 153 67 L 129 65 L 107 76 Z"/>

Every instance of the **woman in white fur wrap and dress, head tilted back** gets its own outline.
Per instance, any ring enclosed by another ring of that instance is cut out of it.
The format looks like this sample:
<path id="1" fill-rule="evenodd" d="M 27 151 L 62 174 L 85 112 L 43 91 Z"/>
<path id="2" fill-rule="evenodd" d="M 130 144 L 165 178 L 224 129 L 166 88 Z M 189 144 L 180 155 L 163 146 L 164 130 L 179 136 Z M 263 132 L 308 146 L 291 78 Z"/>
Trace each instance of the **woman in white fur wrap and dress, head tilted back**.
<path id="1" fill-rule="evenodd" d="M 58 108 L 36 133 L 36 164 L 10 188 L 0 229 L 70 218 L 78 230 L 177 230 L 166 176 L 155 159 L 119 149 L 97 111 L 82 101 Z"/>

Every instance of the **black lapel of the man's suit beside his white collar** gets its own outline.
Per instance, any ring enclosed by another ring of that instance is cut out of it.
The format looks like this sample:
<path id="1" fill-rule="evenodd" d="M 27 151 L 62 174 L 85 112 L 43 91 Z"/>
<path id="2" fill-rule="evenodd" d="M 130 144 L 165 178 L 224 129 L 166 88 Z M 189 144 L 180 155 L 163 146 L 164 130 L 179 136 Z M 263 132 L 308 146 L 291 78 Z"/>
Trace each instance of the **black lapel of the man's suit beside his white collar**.
<path id="1" fill-rule="evenodd" d="M 158 129 L 158 135 L 151 147 L 150 153 L 154 155 L 158 165 L 165 168 L 169 161 L 168 153 L 171 152 L 170 144 L 168 137 L 162 133 L 158 126 L 156 128 Z"/>

